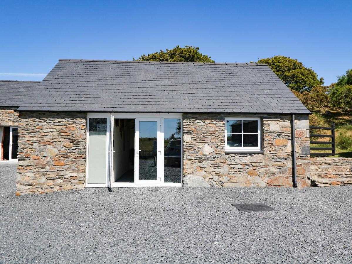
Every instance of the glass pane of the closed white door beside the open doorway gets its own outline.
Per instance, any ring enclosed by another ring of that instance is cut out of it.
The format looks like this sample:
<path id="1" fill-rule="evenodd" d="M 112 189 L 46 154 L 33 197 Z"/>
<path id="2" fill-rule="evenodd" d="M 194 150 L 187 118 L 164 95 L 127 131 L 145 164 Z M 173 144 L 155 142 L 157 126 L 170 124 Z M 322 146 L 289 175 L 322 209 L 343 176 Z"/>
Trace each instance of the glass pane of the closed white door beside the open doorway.
<path id="1" fill-rule="evenodd" d="M 138 180 L 157 180 L 157 121 L 139 121 Z"/>

